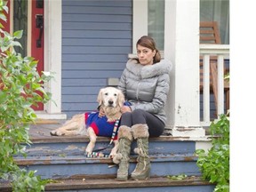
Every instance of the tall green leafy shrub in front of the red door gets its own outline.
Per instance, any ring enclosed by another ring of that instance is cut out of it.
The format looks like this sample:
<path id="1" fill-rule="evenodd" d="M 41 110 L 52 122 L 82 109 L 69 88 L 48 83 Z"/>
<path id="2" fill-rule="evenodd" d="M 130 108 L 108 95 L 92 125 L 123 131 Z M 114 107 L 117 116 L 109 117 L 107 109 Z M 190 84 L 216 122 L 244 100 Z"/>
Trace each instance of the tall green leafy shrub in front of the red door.
<path id="1" fill-rule="evenodd" d="M 22 36 L 22 30 L 13 35 L 4 31 L 4 11 L 8 11 L 6 2 L 0 0 L 0 179 L 11 181 L 12 191 L 44 191 L 50 180 L 41 180 L 35 176 L 36 171 L 20 169 L 13 156 L 26 156 L 25 146 L 31 144 L 29 124 L 36 119 L 31 106 L 51 99 L 44 85 L 52 76 L 39 74 L 34 58 L 22 58 L 15 52 L 15 47 L 21 47 L 17 39 Z"/>

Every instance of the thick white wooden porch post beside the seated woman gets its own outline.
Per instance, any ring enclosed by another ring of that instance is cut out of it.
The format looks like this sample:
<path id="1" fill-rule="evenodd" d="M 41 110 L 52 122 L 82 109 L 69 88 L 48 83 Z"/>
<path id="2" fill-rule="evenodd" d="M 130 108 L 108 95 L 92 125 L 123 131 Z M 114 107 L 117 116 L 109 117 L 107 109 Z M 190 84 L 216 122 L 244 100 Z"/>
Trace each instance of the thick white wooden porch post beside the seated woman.
<path id="1" fill-rule="evenodd" d="M 172 60 L 166 105 L 172 136 L 202 137 L 199 106 L 199 0 L 165 0 L 164 58 Z"/>

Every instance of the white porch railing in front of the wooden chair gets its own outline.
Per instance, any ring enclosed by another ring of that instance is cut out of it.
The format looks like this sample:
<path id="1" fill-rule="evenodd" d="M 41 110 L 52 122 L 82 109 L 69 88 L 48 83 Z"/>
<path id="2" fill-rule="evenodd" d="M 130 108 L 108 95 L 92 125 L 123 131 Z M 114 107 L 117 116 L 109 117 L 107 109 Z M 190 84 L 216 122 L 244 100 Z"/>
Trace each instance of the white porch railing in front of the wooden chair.
<path id="1" fill-rule="evenodd" d="M 210 57 L 217 56 L 217 116 L 224 113 L 224 60 L 229 59 L 228 44 L 200 44 L 203 57 L 203 121 L 202 126 L 211 124 L 210 120 Z"/>

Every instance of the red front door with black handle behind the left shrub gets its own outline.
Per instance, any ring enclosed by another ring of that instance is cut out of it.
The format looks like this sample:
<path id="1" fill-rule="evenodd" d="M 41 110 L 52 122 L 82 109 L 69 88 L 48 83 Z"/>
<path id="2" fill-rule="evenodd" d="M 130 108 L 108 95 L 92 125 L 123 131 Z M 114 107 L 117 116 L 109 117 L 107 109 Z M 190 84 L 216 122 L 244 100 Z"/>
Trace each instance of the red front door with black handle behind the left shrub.
<path id="1" fill-rule="evenodd" d="M 23 57 L 31 56 L 38 60 L 39 74 L 44 70 L 44 0 L 9 0 L 8 22 L 5 30 L 13 33 L 23 30 L 18 52 Z M 44 110 L 39 103 L 35 110 Z"/>

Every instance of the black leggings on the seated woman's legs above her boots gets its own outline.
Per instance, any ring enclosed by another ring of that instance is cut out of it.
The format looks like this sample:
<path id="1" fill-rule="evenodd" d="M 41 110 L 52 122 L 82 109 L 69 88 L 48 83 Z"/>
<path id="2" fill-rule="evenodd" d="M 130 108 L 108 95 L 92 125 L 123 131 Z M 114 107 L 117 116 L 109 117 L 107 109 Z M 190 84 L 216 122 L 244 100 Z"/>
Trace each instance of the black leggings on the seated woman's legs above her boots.
<path id="1" fill-rule="evenodd" d="M 164 123 L 156 116 L 142 109 L 122 114 L 120 125 L 148 124 L 149 137 L 159 137 L 164 132 Z"/>

